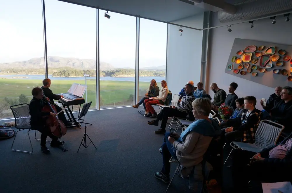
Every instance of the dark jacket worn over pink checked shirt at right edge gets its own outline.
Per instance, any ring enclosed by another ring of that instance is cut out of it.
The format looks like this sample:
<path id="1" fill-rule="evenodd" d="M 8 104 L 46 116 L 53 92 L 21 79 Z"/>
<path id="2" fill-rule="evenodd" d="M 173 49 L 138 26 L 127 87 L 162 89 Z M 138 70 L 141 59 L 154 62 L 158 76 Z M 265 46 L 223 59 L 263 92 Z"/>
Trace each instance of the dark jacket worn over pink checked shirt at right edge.
<path id="1" fill-rule="evenodd" d="M 290 135 L 288 135 L 288 137 L 286 137 L 281 143 L 277 144 L 277 145 L 283 145 L 286 143 L 286 141 L 288 139 L 290 139 L 292 137 L 292 133 L 290 133 Z M 268 147 L 268 148 L 265 148 L 263 149 L 260 154 L 261 154 L 261 157 L 264 157 L 266 158 L 264 160 L 264 162 L 266 163 L 270 163 L 270 164 L 273 164 L 273 165 L 277 165 L 279 167 L 286 167 L 287 169 L 290 168 L 291 169 L 291 166 L 292 166 L 292 148 L 288 151 L 286 157 L 284 159 L 278 159 L 278 158 L 268 158 L 269 157 L 269 151 L 271 149 L 273 149 L 274 147 L 276 147 L 277 145 L 274 145 L 272 147 Z"/>

